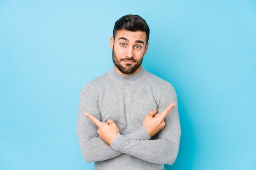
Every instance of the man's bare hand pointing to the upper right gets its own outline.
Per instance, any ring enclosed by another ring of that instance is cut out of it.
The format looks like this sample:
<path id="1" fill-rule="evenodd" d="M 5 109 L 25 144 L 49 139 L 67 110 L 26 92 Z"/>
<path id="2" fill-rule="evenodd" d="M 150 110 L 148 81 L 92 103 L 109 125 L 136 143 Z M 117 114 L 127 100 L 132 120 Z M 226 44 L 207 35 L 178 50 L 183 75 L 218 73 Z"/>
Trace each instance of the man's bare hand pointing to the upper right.
<path id="1" fill-rule="evenodd" d="M 146 128 L 150 137 L 153 137 L 159 131 L 164 129 L 164 118 L 168 115 L 168 113 L 171 111 L 171 109 L 173 109 L 174 106 L 175 103 L 172 103 L 163 111 L 162 114 L 157 113 L 156 109 L 148 113 L 142 125 Z"/>

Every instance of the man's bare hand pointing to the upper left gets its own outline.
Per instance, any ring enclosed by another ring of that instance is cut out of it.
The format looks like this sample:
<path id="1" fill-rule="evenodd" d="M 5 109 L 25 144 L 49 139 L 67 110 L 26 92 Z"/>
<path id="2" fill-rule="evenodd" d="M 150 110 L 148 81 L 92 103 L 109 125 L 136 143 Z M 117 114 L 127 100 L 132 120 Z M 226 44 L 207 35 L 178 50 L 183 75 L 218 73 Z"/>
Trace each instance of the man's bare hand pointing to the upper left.
<path id="1" fill-rule="evenodd" d="M 117 133 L 119 133 L 117 124 L 111 119 L 108 119 L 107 122 L 101 122 L 89 113 L 85 113 L 85 116 L 98 126 L 99 129 L 97 133 L 99 137 L 110 146 Z"/>

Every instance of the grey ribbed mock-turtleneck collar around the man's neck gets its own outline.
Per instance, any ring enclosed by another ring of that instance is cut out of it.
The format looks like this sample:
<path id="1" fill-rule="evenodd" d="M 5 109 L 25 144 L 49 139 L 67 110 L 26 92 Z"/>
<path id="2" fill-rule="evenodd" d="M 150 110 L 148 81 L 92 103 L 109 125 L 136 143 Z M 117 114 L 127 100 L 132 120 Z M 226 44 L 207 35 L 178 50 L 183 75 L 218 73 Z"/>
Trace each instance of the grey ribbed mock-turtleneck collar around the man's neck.
<path id="1" fill-rule="evenodd" d="M 141 81 L 145 77 L 146 73 L 147 73 L 147 71 L 142 67 L 138 73 L 130 75 L 130 76 L 124 76 L 124 75 L 117 73 L 114 67 L 108 71 L 108 75 L 114 81 L 116 81 L 117 83 L 120 83 L 120 84 L 137 83 L 138 81 Z"/>

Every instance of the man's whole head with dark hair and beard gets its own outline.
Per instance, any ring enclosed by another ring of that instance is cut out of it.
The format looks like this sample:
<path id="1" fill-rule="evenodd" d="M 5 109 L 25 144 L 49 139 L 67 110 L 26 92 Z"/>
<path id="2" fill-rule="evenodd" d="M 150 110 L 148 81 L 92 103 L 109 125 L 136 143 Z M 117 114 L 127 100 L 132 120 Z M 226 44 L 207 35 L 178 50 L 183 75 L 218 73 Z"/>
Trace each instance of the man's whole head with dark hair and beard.
<path id="1" fill-rule="evenodd" d="M 122 75 L 141 70 L 143 56 L 148 50 L 149 28 L 138 15 L 125 15 L 115 23 L 110 48 L 115 70 Z"/>

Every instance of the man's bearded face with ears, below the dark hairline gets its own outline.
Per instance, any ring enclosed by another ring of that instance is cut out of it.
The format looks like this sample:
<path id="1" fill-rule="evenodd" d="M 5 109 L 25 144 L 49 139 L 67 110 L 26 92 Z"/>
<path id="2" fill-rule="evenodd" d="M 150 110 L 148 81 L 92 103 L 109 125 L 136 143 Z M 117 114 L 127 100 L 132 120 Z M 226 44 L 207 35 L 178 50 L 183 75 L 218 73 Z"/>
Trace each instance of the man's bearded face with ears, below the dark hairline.
<path id="1" fill-rule="evenodd" d="M 146 33 L 119 30 L 115 39 L 110 37 L 110 48 L 115 70 L 125 76 L 136 74 L 148 50 Z"/>

